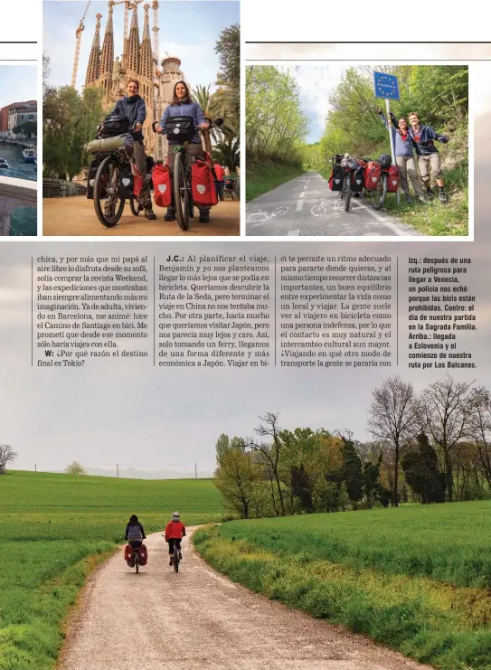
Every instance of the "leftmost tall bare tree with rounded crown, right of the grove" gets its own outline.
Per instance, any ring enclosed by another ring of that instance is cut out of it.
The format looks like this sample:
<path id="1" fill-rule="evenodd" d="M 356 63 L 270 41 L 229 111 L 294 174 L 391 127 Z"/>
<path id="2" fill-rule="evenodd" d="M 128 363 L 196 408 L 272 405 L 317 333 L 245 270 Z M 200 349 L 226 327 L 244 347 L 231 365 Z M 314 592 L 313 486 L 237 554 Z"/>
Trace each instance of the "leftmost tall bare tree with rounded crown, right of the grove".
<path id="1" fill-rule="evenodd" d="M 418 432 L 418 403 L 411 383 L 389 377 L 372 392 L 368 429 L 376 439 L 390 441 L 393 451 L 392 505 L 399 502 L 401 451 Z"/>

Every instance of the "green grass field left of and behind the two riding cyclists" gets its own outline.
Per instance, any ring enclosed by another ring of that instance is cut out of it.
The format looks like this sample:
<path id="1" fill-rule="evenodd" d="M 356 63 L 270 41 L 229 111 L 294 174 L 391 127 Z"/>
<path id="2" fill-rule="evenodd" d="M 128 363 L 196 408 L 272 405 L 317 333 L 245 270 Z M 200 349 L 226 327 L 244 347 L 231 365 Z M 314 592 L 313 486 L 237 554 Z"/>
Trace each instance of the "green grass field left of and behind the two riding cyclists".
<path id="1" fill-rule="evenodd" d="M 187 525 L 222 517 L 209 479 L 7 472 L 0 499 L 0 670 L 54 667 L 68 609 L 90 570 L 123 542 L 130 514 L 146 533 L 165 527 L 175 509 Z"/>

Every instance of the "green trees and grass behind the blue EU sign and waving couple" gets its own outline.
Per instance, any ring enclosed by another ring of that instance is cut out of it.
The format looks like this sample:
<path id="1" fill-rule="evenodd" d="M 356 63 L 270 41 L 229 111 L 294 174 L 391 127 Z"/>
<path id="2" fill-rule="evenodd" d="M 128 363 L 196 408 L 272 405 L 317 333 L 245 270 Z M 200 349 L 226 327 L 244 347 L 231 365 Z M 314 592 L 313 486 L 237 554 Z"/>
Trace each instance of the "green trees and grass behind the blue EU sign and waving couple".
<path id="1" fill-rule="evenodd" d="M 396 118 L 408 118 L 416 111 L 420 123 L 447 135 L 449 143 L 436 142 L 449 203 L 438 197 L 429 203 L 405 203 L 403 193 L 397 204 L 389 193 L 382 210 L 425 235 L 461 236 L 468 234 L 468 69 L 455 65 L 361 66 L 349 68 L 329 98 L 326 130 L 315 145 L 303 147 L 307 169 L 317 170 L 326 179 L 335 154 L 349 153 L 358 158 L 378 158 L 391 153 L 387 129 L 377 114 L 382 99 L 373 93 L 373 71 L 386 71 L 399 79 L 400 100 L 391 101 Z M 327 184 L 326 184 L 327 186 Z M 436 185 L 431 181 L 434 193 Z M 410 181 L 410 191 L 412 186 Z"/>

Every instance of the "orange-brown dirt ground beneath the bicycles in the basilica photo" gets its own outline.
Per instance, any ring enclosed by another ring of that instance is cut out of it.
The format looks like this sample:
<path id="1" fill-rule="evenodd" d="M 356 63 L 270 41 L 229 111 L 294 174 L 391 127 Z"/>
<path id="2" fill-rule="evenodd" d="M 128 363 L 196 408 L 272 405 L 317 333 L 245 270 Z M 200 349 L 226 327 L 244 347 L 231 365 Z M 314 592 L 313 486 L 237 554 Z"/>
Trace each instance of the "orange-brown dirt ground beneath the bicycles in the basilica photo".
<path id="1" fill-rule="evenodd" d="M 42 200 L 43 235 L 108 235 L 111 237 L 133 235 L 172 235 L 193 238 L 197 235 L 239 235 L 240 204 L 237 200 L 224 200 L 210 212 L 210 223 L 199 223 L 198 212 L 191 220 L 187 231 L 182 231 L 177 222 L 164 221 L 165 209 L 154 207 L 156 221 L 149 221 L 143 212 L 133 216 L 129 204 L 117 225 L 113 228 L 103 226 L 94 211 L 94 203 L 84 196 L 73 195 L 67 198 L 44 198 Z"/>

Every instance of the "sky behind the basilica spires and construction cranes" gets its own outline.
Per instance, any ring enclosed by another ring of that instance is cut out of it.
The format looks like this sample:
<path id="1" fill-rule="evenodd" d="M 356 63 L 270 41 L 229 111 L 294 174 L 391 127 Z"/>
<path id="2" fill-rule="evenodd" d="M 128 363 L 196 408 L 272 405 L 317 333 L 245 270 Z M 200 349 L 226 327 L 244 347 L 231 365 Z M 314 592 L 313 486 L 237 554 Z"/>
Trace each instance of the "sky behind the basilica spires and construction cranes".
<path id="1" fill-rule="evenodd" d="M 150 4 L 150 3 L 148 3 Z M 52 0 L 43 6 L 42 49 L 50 57 L 50 82 L 54 86 L 71 83 L 71 72 L 75 55 L 75 31 L 80 23 L 87 3 L 85 0 Z M 186 80 L 194 88 L 198 84 L 208 86 L 216 80 L 219 70 L 215 44 L 224 28 L 239 23 L 239 2 L 228 0 L 160 0 L 158 9 L 159 48 L 161 60 L 176 56 L 182 61 Z M 100 46 L 108 20 L 108 3 L 92 2 L 85 19 L 85 30 L 81 35 L 80 61 L 77 87 L 85 83 L 90 47 L 95 32 L 96 14 L 100 19 Z M 131 25 L 130 12 L 128 30 Z M 150 35 L 152 36 L 153 12 L 149 10 Z M 123 52 L 124 4 L 114 7 L 114 55 Z M 140 42 L 144 24 L 143 5 L 138 5 Z M 211 90 L 215 87 L 212 86 Z"/>

